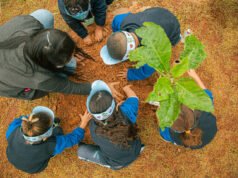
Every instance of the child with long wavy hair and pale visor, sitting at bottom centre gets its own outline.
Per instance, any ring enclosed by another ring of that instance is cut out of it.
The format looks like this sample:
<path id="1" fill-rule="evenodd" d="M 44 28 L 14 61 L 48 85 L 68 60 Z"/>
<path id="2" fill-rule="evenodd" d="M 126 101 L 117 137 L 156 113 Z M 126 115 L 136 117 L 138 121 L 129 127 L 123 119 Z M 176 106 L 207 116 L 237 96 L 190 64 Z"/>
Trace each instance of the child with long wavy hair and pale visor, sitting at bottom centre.
<path id="1" fill-rule="evenodd" d="M 79 159 L 118 170 L 132 163 L 143 150 L 136 126 L 139 99 L 130 85 L 123 90 L 128 98 L 116 104 L 106 83 L 99 80 L 92 84 L 87 109 L 93 116 L 89 128 L 96 145 L 80 144 Z"/>

